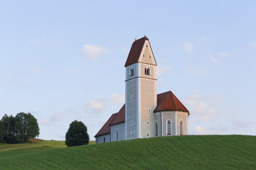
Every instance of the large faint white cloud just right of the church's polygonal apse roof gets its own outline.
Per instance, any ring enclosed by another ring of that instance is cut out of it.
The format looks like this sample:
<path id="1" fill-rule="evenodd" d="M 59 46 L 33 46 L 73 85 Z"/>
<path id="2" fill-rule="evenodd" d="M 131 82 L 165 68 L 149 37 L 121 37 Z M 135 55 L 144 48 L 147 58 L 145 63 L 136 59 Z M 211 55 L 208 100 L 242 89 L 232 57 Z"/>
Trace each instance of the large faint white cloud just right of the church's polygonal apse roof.
<path id="1" fill-rule="evenodd" d="M 188 105 L 189 111 L 201 121 L 211 121 L 217 115 L 217 110 L 209 107 L 208 103 L 210 102 L 203 100 L 203 97 L 199 94 L 188 95 L 185 103 Z"/>

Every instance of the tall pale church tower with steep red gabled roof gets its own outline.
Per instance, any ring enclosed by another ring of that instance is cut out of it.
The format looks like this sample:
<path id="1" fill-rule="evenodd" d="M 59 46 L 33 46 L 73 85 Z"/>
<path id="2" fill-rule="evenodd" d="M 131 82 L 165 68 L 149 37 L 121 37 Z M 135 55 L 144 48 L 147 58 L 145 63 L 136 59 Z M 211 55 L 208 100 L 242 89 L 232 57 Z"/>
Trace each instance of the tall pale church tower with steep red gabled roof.
<path id="1" fill-rule="evenodd" d="M 125 139 L 158 136 L 156 60 L 145 36 L 132 44 L 125 63 Z"/>

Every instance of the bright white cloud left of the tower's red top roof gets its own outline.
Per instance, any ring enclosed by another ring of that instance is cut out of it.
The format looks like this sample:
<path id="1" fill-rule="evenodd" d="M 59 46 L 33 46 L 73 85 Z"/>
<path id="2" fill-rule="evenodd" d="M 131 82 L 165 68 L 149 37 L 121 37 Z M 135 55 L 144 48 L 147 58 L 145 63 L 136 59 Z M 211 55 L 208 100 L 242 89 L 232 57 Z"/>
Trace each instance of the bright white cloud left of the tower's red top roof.
<path id="1" fill-rule="evenodd" d="M 100 54 L 107 52 L 106 48 L 93 45 L 84 45 L 82 49 L 85 59 L 98 59 Z"/>

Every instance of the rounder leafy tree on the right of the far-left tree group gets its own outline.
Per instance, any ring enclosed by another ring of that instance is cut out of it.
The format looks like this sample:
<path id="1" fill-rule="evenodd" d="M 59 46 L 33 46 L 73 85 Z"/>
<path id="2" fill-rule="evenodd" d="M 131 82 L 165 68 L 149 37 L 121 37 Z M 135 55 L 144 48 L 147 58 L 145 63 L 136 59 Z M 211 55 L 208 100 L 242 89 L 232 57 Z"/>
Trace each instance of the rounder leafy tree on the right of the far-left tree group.
<path id="1" fill-rule="evenodd" d="M 25 143 L 29 138 L 39 136 L 39 125 L 30 113 L 20 112 L 15 117 L 16 136 L 20 143 Z"/>

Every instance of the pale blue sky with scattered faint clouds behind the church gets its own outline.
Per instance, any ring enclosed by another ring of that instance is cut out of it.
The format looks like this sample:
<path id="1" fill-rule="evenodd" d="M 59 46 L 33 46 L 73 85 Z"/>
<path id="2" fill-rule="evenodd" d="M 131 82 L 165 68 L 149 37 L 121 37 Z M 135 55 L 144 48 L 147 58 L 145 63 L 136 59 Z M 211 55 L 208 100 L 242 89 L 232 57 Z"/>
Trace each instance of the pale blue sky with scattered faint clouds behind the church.
<path id="1" fill-rule="evenodd" d="M 124 104 L 125 61 L 149 38 L 157 93 L 188 133 L 256 135 L 255 1 L 2 1 L 0 118 L 30 112 L 42 139 L 82 121 L 91 140 Z"/>

